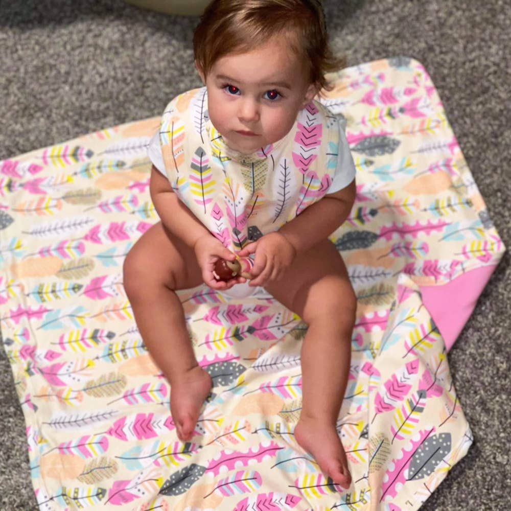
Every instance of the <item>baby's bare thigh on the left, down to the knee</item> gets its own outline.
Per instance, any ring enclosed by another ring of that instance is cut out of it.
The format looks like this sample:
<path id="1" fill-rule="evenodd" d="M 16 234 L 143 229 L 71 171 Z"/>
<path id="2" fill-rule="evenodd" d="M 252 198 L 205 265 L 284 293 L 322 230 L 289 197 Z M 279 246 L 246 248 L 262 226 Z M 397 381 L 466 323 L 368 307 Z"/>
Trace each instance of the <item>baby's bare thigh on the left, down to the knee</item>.
<path id="1" fill-rule="evenodd" d="M 176 238 L 161 222 L 150 227 L 133 245 L 124 263 L 125 276 L 145 284 L 162 283 L 171 289 L 202 284 L 202 273 L 192 248 Z"/>

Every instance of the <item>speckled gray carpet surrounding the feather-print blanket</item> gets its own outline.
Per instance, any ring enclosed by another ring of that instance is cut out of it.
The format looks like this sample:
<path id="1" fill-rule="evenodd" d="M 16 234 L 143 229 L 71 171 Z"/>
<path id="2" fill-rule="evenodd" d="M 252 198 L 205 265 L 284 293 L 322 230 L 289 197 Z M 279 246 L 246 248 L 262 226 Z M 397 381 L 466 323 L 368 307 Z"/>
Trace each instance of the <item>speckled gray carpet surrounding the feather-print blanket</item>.
<path id="1" fill-rule="evenodd" d="M 325 6 L 335 48 L 349 65 L 396 55 L 423 62 L 511 246 L 511 3 Z M 196 22 L 121 0 L 0 0 L 0 159 L 159 115 L 170 98 L 199 85 L 192 71 Z M 423 509 L 511 509 L 509 283 L 506 254 L 449 356 L 474 445 Z M 35 509 L 25 423 L 3 350 L 0 379 L 0 508 Z"/>

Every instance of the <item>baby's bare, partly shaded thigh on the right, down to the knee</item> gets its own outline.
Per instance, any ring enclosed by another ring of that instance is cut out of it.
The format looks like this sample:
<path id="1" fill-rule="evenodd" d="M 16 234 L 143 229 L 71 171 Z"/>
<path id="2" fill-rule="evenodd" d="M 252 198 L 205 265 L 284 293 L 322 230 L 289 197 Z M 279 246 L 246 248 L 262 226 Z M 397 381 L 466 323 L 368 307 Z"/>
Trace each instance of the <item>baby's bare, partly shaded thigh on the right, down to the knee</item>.
<path id="1" fill-rule="evenodd" d="M 346 266 L 330 240 L 298 254 L 283 277 L 265 289 L 305 321 L 315 312 L 326 312 L 339 304 L 350 314 L 356 308 Z"/>

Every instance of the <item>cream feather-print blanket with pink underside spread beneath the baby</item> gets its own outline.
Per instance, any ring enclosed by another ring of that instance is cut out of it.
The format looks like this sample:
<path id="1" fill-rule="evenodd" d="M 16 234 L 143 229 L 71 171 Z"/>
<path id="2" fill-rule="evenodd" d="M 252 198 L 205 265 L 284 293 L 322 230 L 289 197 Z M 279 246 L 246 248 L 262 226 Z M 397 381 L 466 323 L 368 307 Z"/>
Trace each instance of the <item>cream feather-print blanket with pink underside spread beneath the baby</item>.
<path id="1" fill-rule="evenodd" d="M 0 324 L 44 511 L 417 509 L 472 442 L 447 350 L 504 251 L 431 79 L 412 59 L 345 69 L 353 211 L 332 236 L 358 297 L 337 430 L 342 490 L 294 440 L 307 326 L 271 299 L 180 292 L 214 382 L 191 442 L 137 332 L 127 251 L 157 217 L 159 118 L 0 162 Z"/>

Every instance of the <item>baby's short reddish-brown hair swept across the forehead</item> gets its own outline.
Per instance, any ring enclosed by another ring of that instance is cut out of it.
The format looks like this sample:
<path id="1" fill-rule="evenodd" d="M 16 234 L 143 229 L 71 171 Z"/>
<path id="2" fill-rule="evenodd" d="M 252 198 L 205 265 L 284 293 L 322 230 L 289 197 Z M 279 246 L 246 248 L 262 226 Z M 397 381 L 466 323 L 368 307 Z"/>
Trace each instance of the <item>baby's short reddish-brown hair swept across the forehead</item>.
<path id="1" fill-rule="evenodd" d="M 332 53 L 320 0 L 213 0 L 197 26 L 195 62 L 204 76 L 229 53 L 260 47 L 283 35 L 309 67 L 310 83 L 329 89 L 325 74 L 344 62 Z"/>

